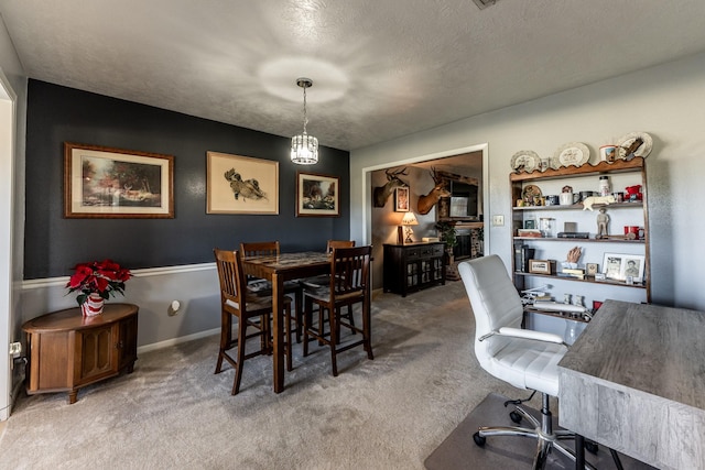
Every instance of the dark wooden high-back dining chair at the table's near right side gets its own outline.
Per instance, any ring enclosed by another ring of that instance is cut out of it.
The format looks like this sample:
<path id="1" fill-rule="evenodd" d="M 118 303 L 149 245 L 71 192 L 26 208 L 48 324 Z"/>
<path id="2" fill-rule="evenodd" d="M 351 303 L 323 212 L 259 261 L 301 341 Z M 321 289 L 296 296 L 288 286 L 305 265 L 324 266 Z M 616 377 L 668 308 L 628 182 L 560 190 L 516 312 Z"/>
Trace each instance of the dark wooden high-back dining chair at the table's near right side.
<path id="1" fill-rule="evenodd" d="M 319 345 L 328 345 L 333 375 L 338 375 L 337 358 L 339 352 L 362 346 L 369 359 L 375 359 L 370 340 L 370 260 L 372 247 L 335 248 L 332 252 L 330 275 L 327 288 L 304 291 L 303 354 L 308 354 L 308 338 L 315 338 Z M 343 307 L 362 305 L 362 327 L 356 327 L 341 316 Z M 313 307 L 317 306 L 318 323 L 313 324 Z M 327 320 L 328 331 L 323 324 Z M 362 338 L 356 341 L 339 340 L 340 326 L 358 332 Z"/>

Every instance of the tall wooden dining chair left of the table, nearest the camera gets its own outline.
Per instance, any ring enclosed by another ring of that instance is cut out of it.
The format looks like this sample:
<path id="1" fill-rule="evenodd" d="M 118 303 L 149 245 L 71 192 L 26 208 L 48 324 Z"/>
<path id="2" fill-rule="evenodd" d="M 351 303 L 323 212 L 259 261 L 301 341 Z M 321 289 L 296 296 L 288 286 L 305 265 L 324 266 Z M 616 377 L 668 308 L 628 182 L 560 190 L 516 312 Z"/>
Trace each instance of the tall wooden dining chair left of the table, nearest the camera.
<path id="1" fill-rule="evenodd" d="M 223 371 L 224 359 L 229 362 L 235 368 L 235 380 L 230 393 L 237 395 L 242 379 L 242 363 L 247 359 L 272 352 L 270 328 L 272 297 L 253 295 L 248 291 L 242 271 L 242 260 L 238 251 L 215 249 L 214 254 L 220 281 L 220 349 L 215 373 L 218 374 Z M 284 297 L 283 308 L 286 316 L 284 323 L 286 370 L 291 371 L 291 299 L 289 297 Z M 234 317 L 238 319 L 236 338 L 232 338 Z M 248 334 L 250 327 L 257 331 Z M 257 351 L 246 353 L 247 340 L 257 337 L 260 338 L 260 348 Z M 234 358 L 228 351 L 235 347 L 237 347 L 237 354 Z"/>

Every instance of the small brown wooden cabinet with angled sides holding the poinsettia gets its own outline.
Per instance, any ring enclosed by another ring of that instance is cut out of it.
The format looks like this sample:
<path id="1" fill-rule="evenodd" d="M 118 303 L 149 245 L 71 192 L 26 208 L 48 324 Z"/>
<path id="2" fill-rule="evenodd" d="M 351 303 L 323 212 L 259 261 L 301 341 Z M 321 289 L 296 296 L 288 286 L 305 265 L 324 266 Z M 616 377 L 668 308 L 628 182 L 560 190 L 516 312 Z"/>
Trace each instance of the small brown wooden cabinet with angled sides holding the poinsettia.
<path id="1" fill-rule="evenodd" d="M 137 360 L 138 306 L 106 304 L 101 315 L 84 318 L 80 308 L 54 311 L 26 321 L 26 393 L 68 392 L 131 373 Z"/>

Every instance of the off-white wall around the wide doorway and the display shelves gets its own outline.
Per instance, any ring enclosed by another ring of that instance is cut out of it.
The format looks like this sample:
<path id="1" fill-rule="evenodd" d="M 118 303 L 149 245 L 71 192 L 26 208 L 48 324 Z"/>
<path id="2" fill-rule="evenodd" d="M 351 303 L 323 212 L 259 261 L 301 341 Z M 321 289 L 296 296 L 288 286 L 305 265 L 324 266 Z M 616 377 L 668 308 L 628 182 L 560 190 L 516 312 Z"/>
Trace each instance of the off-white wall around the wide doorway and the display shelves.
<path id="1" fill-rule="evenodd" d="M 705 218 L 698 214 L 705 182 L 705 55 L 600 81 L 402 139 L 350 155 L 351 220 L 370 210 L 362 170 L 382 163 L 480 143 L 489 146 L 489 214 L 511 220 L 509 161 L 520 150 L 551 156 L 562 144 L 598 149 L 632 131 L 653 138 L 647 159 L 651 229 L 652 302 L 705 310 L 699 267 L 705 266 Z M 350 223 L 350 238 L 370 240 L 369 220 Z M 367 233 L 366 233 L 367 231 Z M 510 264 L 510 225 L 487 227 L 491 253 Z"/>

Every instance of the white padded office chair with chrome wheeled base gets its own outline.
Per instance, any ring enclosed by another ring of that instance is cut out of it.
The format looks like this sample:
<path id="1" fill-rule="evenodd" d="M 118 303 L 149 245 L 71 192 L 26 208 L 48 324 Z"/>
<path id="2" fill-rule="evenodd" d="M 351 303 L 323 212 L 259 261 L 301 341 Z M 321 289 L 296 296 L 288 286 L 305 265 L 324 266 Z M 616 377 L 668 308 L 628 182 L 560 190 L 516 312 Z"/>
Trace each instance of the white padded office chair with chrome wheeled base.
<path id="1" fill-rule="evenodd" d="M 473 439 L 484 446 L 489 436 L 521 436 L 538 439 L 533 468 L 543 469 L 551 448 L 575 461 L 573 449 L 558 439 L 575 439 L 575 434 L 553 430 L 549 396 L 558 393 L 557 363 L 567 346 L 557 335 L 521 329 L 523 308 L 505 264 L 496 254 L 458 264 L 460 278 L 475 314 L 475 354 L 487 372 L 519 389 L 541 392 L 541 423 L 521 406 L 510 417 L 522 418 L 534 428 L 518 426 L 480 427 Z M 585 468 L 593 469 L 589 463 Z"/>

